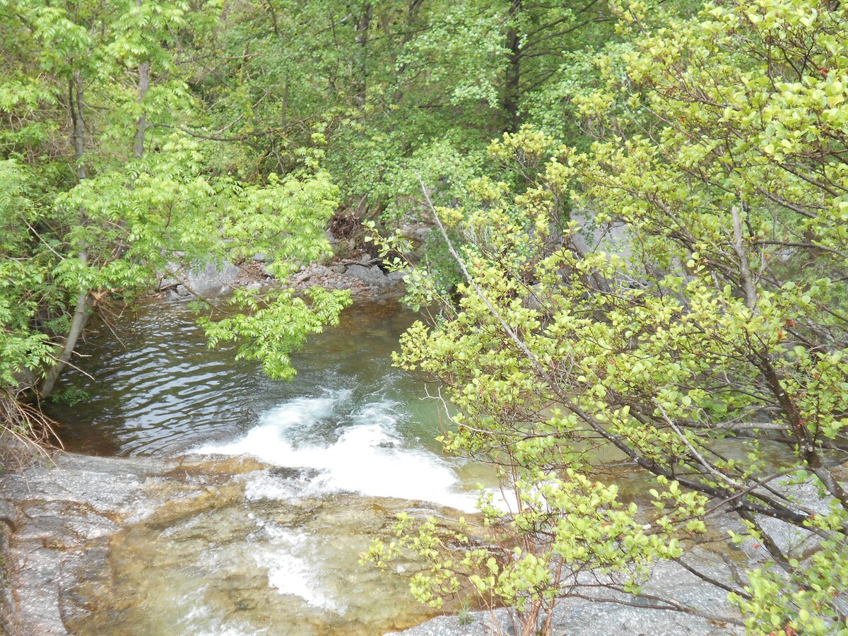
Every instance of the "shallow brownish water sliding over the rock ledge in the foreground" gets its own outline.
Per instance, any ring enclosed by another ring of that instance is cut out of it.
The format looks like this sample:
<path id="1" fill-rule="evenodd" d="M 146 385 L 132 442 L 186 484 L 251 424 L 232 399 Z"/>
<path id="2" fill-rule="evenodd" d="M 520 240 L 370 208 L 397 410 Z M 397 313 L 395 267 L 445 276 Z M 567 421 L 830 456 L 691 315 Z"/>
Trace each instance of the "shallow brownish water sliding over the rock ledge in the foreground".
<path id="1" fill-rule="evenodd" d="M 249 490 L 272 481 L 254 462 L 194 462 L 146 488 L 153 513 L 109 539 L 108 566 L 70 590 L 87 613 L 71 633 L 375 634 L 433 615 L 408 593 L 414 563 L 362 566 L 421 505 L 338 494 L 287 502 Z M 247 491 L 247 492 L 246 492 Z M 426 510 L 449 522 L 449 509 Z"/>

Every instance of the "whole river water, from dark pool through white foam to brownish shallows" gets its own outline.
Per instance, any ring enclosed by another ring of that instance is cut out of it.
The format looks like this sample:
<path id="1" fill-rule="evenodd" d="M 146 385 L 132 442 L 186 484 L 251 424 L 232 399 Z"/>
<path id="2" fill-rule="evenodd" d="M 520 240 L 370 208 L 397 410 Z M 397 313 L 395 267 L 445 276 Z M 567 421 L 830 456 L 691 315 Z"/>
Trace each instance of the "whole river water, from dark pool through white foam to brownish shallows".
<path id="1" fill-rule="evenodd" d="M 432 616 L 409 598 L 414 563 L 358 562 L 399 511 L 449 522 L 493 483 L 440 454 L 444 404 L 391 368 L 415 317 L 349 308 L 294 356 L 291 383 L 207 349 L 183 304 L 98 330 L 82 349 L 88 377 L 59 388 L 89 399 L 51 413 L 70 452 L 151 467 L 102 572 L 74 586 L 87 610 L 70 631 L 371 634 Z"/>

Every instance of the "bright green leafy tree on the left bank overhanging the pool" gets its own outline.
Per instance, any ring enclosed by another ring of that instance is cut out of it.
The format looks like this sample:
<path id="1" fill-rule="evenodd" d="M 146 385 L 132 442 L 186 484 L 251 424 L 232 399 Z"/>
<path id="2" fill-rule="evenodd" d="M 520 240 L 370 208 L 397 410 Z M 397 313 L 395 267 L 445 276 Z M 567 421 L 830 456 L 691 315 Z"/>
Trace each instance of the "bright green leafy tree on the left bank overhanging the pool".
<path id="1" fill-rule="evenodd" d="M 0 4 L 10 42 L 0 75 L 8 186 L 0 218 L 10 232 L 0 248 L 15 282 L 4 278 L 0 292 L 8 308 L 0 399 L 10 427 L 36 412 L 21 410 L 23 389 L 36 400 L 53 393 L 98 305 L 147 293 L 168 271 L 262 252 L 285 280 L 295 263 L 329 252 L 338 187 L 318 165 L 320 135 L 286 175 L 245 182 L 216 172 L 213 142 L 183 131 L 204 111 L 181 56 L 216 16 L 213 5 L 192 13 L 165 1 Z M 247 315 L 218 326 L 215 338 L 241 338 L 260 321 L 243 354 L 289 377 L 287 354 L 347 304 L 345 293 L 310 298 L 238 296 L 228 313 Z"/>

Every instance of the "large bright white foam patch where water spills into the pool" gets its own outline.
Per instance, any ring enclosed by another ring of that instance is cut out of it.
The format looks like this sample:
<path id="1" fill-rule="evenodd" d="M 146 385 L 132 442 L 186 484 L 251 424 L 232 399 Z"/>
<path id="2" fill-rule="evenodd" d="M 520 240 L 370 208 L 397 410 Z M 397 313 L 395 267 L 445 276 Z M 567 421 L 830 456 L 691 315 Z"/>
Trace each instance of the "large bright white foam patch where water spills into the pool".
<path id="1" fill-rule="evenodd" d="M 354 413 L 339 412 L 349 393 L 331 398 L 300 398 L 267 412 L 259 425 L 228 444 L 210 444 L 195 452 L 208 455 L 251 455 L 271 466 L 316 471 L 298 484 L 299 496 L 338 492 L 373 497 L 416 499 L 459 510 L 475 510 L 477 494 L 460 492 L 455 470 L 427 449 L 407 448 L 396 423 L 395 404 L 367 404 Z M 309 432 L 321 418 L 339 421 L 335 442 L 293 444 L 294 433 Z M 358 423 L 363 422 L 363 423 Z M 289 499 L 291 485 L 252 483 L 248 496 Z"/>

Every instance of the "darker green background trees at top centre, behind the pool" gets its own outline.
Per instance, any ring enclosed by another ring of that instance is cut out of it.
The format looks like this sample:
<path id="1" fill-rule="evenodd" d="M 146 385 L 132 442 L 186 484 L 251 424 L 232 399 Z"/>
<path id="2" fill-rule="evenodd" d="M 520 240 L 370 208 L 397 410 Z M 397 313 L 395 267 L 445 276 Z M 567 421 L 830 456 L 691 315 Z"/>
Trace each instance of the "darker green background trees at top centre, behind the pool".
<path id="1" fill-rule="evenodd" d="M 566 52 L 613 37 L 589 0 L 237 3 L 209 45 L 230 54 L 203 56 L 192 82 L 215 104 L 194 132 L 237 140 L 224 159 L 262 174 L 320 130 L 343 204 L 397 219 L 421 206 L 416 173 L 455 198 L 488 140 L 548 101 Z"/>

